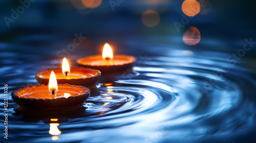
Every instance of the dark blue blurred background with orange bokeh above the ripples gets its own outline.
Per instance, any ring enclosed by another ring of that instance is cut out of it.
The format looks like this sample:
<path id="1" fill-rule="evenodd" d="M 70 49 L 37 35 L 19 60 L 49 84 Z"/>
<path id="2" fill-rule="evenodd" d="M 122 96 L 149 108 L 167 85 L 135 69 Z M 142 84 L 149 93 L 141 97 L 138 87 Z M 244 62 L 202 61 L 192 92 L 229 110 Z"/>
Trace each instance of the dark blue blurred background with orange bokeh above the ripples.
<path id="1" fill-rule="evenodd" d="M 254 1 L 20 2 L 0 2 L 0 38 L 2 43 L 16 44 L 20 51 L 26 51 L 26 45 L 33 45 L 26 52 L 61 50 L 72 43 L 74 34 L 80 33 L 87 39 L 78 49 L 98 53 L 109 42 L 117 46 L 116 53 L 125 50 L 132 55 L 147 53 L 146 49 L 155 45 L 232 53 L 243 47 L 245 38 L 255 39 Z M 136 53 L 132 49 L 137 49 Z M 254 55 L 255 48 L 252 48 L 246 58 Z"/>

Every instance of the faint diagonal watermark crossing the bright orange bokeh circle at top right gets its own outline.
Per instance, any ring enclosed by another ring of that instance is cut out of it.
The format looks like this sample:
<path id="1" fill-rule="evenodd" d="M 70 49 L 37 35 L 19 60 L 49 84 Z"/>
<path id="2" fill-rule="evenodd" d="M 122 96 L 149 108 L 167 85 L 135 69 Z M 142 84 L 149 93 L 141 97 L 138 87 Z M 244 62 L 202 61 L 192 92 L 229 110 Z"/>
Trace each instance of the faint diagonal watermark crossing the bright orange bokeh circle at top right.
<path id="1" fill-rule="evenodd" d="M 208 0 L 208 1 L 211 1 L 211 0 Z M 204 8 L 207 5 L 205 0 L 198 0 L 198 2 L 200 4 L 201 8 Z M 191 9 L 189 11 L 189 13 L 197 13 L 198 9 L 200 8 L 197 5 L 195 5 L 195 6 L 190 5 L 189 7 Z M 180 28 L 184 28 L 185 25 L 187 25 L 190 22 L 190 19 L 193 19 L 193 18 L 194 18 L 194 16 L 186 16 L 184 13 L 182 13 L 181 14 L 181 22 L 175 21 L 174 26 L 177 29 L 177 31 L 180 32 Z"/>

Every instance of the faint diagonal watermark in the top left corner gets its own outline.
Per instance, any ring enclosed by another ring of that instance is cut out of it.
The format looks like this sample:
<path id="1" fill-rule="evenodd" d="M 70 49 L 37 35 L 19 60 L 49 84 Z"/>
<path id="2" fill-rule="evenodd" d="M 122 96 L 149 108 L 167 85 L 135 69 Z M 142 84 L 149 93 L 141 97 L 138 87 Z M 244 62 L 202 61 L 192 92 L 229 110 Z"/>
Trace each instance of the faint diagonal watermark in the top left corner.
<path id="1" fill-rule="evenodd" d="M 31 6 L 31 3 L 34 3 L 36 0 L 20 0 L 20 5 L 16 8 L 16 10 L 11 9 L 12 13 L 10 17 L 5 16 L 4 20 L 7 25 L 7 27 L 10 27 L 10 23 L 15 22 L 19 18 L 21 14 L 25 12 L 26 9 L 28 9 Z"/>

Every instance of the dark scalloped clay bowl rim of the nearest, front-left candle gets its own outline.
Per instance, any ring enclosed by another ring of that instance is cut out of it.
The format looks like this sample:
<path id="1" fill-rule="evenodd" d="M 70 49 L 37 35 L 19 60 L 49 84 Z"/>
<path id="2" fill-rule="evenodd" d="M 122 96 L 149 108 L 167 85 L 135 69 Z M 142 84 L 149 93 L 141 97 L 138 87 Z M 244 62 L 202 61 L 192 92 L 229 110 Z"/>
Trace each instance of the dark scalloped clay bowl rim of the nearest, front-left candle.
<path id="1" fill-rule="evenodd" d="M 35 108 L 35 109 L 47 109 L 47 108 L 70 108 L 81 105 L 84 101 L 86 101 L 91 91 L 89 88 L 84 86 L 78 85 L 70 85 L 70 84 L 58 84 L 59 88 L 77 88 L 79 90 L 79 95 L 77 96 L 70 96 L 68 98 L 61 97 L 56 99 L 36 99 L 36 98 L 23 98 L 19 97 L 18 93 L 23 90 L 30 90 L 30 89 L 38 89 L 38 88 L 47 88 L 47 85 L 40 84 L 40 85 L 32 85 L 28 87 L 21 87 L 14 91 L 12 91 L 11 96 L 15 103 L 20 106 L 27 107 L 27 108 Z"/>

